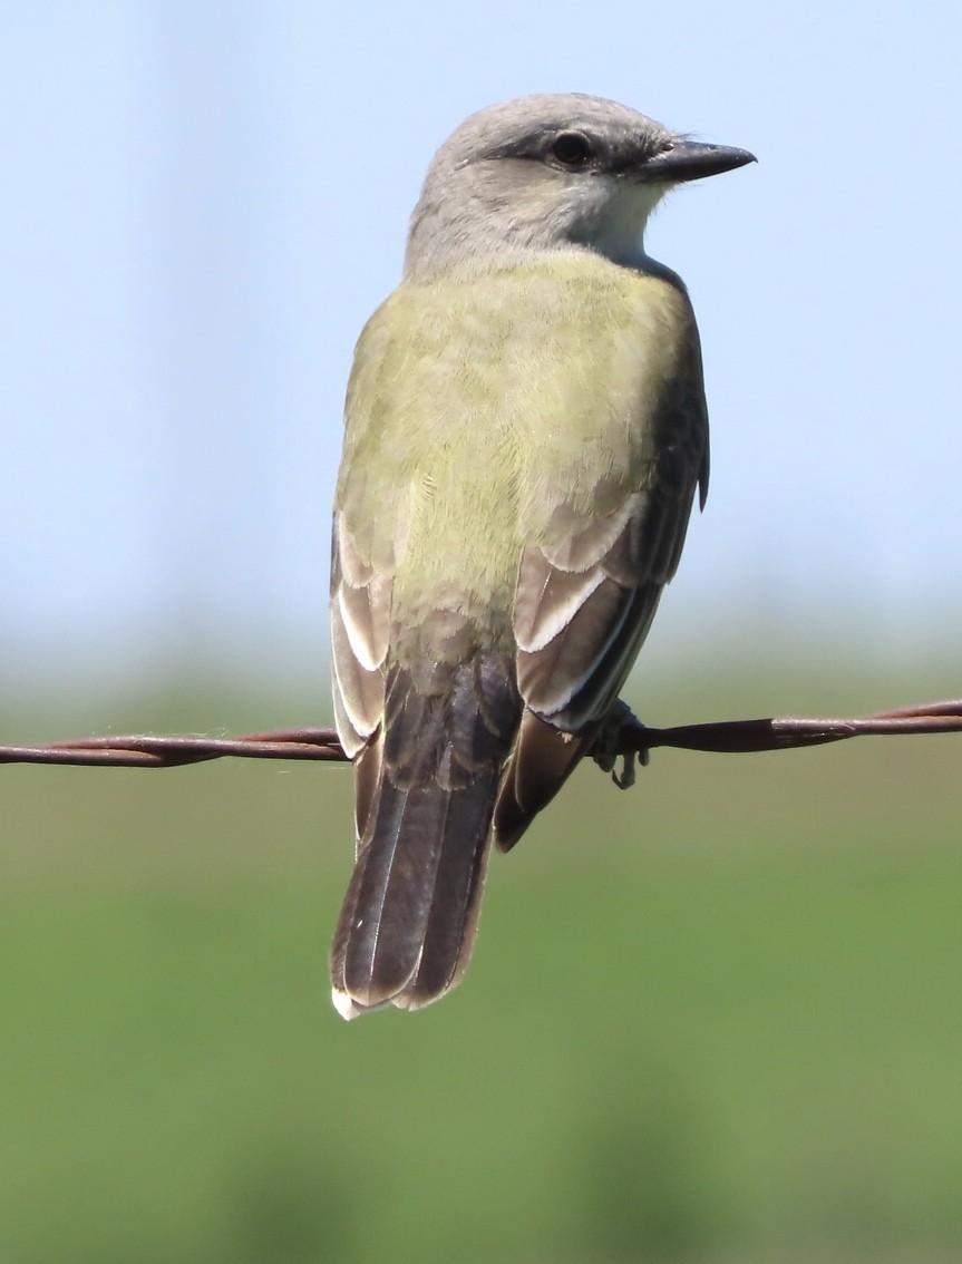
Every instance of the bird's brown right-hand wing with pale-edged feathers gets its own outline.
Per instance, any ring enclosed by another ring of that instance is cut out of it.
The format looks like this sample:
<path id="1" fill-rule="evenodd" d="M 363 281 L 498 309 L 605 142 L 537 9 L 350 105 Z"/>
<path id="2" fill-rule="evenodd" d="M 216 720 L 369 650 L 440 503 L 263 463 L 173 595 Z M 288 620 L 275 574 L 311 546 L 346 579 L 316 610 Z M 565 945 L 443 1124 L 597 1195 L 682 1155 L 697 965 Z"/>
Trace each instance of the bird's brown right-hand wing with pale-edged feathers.
<path id="1" fill-rule="evenodd" d="M 621 503 L 585 518 L 561 502 L 549 540 L 522 554 L 514 637 L 527 710 L 494 814 L 504 849 L 590 748 L 675 574 L 698 487 L 704 504 L 708 416 L 694 324 L 648 425 L 656 441 Z"/>

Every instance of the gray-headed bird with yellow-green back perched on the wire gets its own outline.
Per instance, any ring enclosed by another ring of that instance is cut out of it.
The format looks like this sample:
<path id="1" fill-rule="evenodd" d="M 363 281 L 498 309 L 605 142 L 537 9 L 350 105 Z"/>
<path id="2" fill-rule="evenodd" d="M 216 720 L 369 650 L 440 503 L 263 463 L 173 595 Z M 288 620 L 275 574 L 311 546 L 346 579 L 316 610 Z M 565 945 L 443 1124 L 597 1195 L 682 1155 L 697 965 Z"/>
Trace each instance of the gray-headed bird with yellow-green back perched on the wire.
<path id="1" fill-rule="evenodd" d="M 334 508 L 344 1018 L 459 981 L 490 844 L 617 702 L 708 484 L 695 319 L 645 222 L 752 161 L 565 94 L 472 115 L 431 162 L 355 350 Z"/>

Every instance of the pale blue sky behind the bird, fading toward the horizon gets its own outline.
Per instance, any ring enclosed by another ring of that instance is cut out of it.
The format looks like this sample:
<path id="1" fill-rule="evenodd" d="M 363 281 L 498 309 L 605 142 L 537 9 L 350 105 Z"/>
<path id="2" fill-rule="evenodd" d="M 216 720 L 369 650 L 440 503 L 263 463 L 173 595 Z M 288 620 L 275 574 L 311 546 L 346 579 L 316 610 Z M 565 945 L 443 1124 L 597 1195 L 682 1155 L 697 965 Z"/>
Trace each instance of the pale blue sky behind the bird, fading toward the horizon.
<path id="1" fill-rule="evenodd" d="M 646 655 L 837 638 L 957 672 L 961 24 L 3 5 L 0 680 L 320 664 L 344 383 L 425 167 L 472 110 L 571 90 L 760 159 L 648 230 L 699 316 L 713 461 Z"/>

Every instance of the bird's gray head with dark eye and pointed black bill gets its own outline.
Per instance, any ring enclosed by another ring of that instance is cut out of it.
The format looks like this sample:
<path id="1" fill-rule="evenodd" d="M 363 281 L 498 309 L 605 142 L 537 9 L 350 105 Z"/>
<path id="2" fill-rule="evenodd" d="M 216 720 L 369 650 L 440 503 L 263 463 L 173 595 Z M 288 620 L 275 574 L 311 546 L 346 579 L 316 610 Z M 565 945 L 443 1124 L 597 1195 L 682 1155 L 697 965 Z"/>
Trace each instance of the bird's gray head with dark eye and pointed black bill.
<path id="1" fill-rule="evenodd" d="M 465 119 L 435 154 L 411 219 L 405 276 L 559 249 L 642 267 L 645 222 L 673 185 L 753 161 L 597 96 L 502 101 Z"/>

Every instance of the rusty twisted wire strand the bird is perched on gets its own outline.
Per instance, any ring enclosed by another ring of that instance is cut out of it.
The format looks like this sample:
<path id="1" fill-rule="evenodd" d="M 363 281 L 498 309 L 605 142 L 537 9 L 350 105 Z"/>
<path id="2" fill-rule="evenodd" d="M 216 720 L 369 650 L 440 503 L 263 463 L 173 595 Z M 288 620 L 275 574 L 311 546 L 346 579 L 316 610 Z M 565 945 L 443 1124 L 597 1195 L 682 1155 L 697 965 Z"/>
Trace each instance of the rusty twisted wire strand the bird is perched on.
<path id="1" fill-rule="evenodd" d="M 962 732 L 962 699 L 903 707 L 846 719 L 765 717 L 650 728 L 627 718 L 611 753 L 646 756 L 655 747 L 717 753 L 785 751 L 823 746 L 849 737 Z M 274 729 L 240 737 L 204 736 L 86 737 L 46 746 L 0 746 L 0 763 L 67 763 L 94 767 L 176 769 L 228 757 L 245 760 L 320 760 L 346 756 L 332 728 Z"/>

